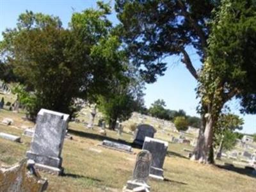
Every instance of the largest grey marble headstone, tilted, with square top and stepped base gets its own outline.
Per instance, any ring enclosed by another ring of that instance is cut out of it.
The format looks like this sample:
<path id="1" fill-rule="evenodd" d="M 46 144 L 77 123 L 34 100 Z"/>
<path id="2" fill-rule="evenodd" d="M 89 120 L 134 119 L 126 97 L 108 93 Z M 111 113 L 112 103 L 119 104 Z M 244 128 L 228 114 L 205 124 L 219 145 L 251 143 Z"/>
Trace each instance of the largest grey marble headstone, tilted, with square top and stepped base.
<path id="1" fill-rule="evenodd" d="M 26 156 L 33 159 L 36 167 L 60 175 L 61 150 L 66 134 L 69 115 L 41 109 L 36 117 L 36 126 L 31 147 Z"/>

